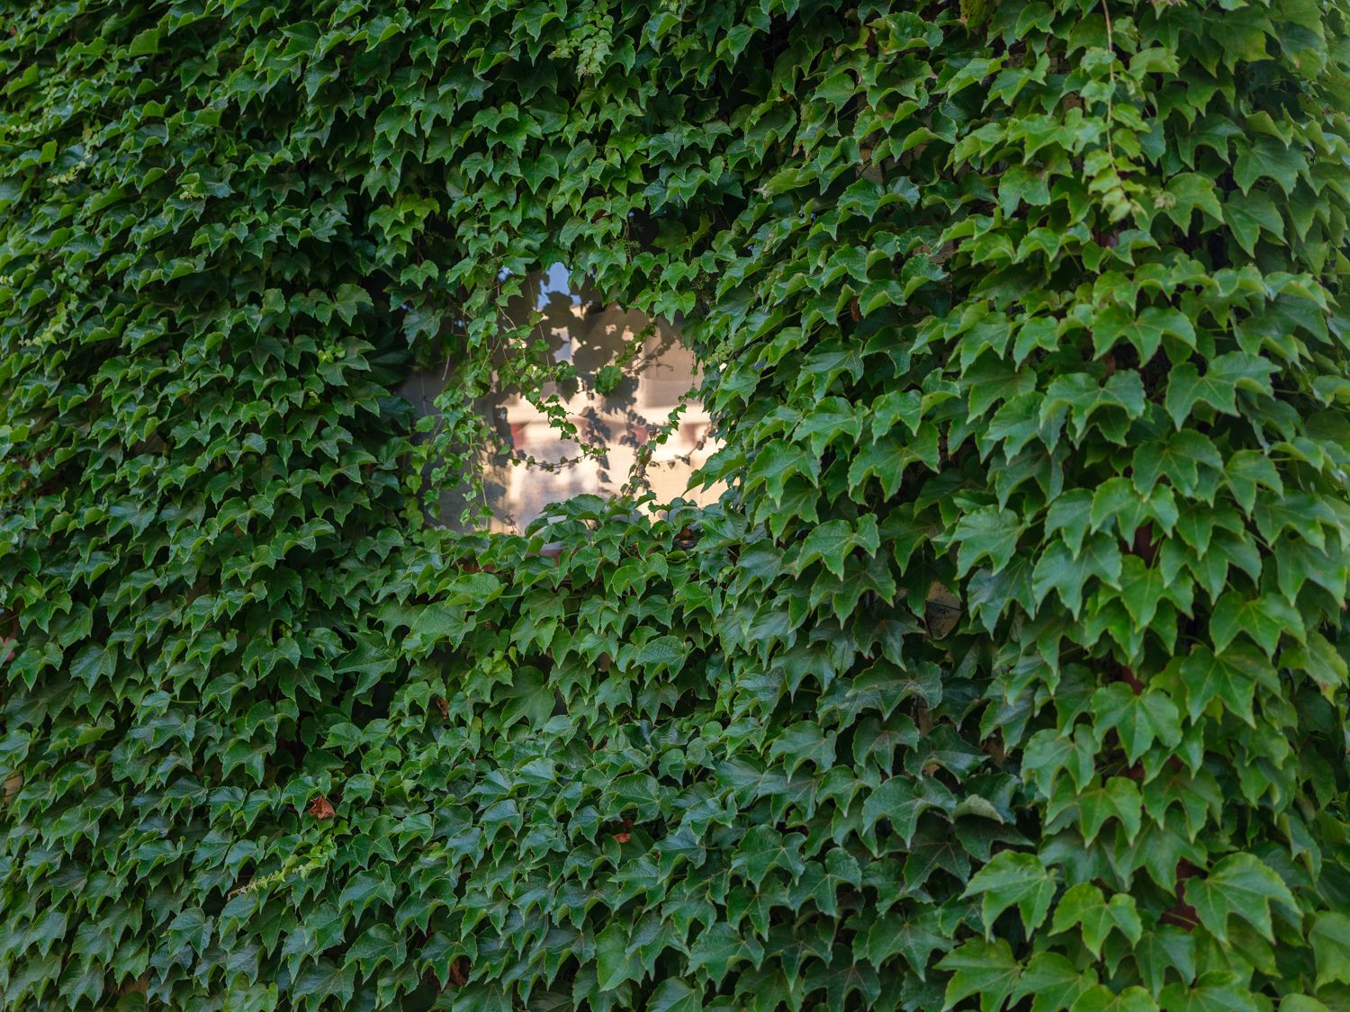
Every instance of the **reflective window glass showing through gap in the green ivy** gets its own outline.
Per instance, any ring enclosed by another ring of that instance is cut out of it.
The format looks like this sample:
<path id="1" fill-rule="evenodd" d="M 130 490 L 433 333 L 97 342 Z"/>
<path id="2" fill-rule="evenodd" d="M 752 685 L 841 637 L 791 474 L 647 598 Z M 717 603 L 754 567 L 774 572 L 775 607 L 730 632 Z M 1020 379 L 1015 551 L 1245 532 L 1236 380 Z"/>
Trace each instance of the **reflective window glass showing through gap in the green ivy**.
<path id="1" fill-rule="evenodd" d="M 625 488 L 649 491 L 659 503 L 716 502 L 724 486 L 690 488 L 691 475 L 720 444 L 707 410 L 691 393 L 701 372 L 683 343 L 682 321 L 606 302 L 590 285 L 574 286 L 562 263 L 529 274 L 505 309 L 512 324 L 528 321 L 532 312 L 543 313 L 532 337 L 544 341 L 552 362 L 575 370 L 570 379 L 547 383 L 541 395 L 558 397 L 578 439 L 567 439 L 513 389 L 497 389 L 477 403 L 502 447 L 479 460 L 489 529 L 518 533 L 549 503 Z M 436 367 L 408 376 L 401 393 L 418 414 L 435 414 L 436 397 L 452 382 L 452 370 Z M 672 421 L 670 434 L 656 443 Z M 602 452 L 583 453 L 582 443 Z M 647 447 L 651 459 L 644 467 Z M 463 488 L 444 488 L 439 522 L 459 529 L 466 505 Z"/>

